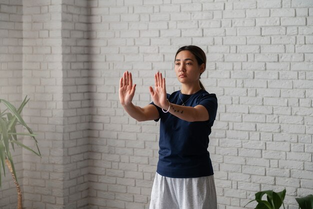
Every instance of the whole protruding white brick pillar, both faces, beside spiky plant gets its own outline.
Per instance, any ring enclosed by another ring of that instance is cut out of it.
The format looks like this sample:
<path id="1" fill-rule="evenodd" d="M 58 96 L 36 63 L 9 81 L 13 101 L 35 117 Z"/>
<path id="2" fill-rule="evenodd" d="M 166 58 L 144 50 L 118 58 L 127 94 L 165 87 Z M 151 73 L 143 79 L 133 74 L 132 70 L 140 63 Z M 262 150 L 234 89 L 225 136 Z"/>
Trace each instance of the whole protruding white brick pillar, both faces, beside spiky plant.
<path id="1" fill-rule="evenodd" d="M 23 155 L 25 208 L 88 205 L 87 8 L 86 1 L 24 1 L 23 94 L 32 98 L 27 119 L 42 153 L 41 160 Z"/>

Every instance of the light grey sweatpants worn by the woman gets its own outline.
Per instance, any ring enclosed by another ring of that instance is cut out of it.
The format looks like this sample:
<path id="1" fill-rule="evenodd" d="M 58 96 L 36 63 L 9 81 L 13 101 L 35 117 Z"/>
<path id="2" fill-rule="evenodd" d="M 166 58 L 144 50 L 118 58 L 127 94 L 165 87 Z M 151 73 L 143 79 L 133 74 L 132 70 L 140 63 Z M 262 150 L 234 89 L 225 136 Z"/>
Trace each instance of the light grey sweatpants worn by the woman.
<path id="1" fill-rule="evenodd" d="M 149 209 L 216 209 L 214 176 L 170 178 L 156 173 Z"/>

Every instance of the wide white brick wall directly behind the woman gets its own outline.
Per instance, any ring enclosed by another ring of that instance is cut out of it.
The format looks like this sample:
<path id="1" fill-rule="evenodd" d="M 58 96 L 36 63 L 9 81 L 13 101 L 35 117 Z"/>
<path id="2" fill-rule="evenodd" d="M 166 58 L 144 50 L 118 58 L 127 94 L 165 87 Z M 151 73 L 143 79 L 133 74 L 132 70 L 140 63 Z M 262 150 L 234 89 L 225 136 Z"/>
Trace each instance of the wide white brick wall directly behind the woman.
<path id="1" fill-rule="evenodd" d="M 313 193 L 303 185 L 313 180 L 310 1 L 94 2 L 92 56 L 103 59 L 91 64 L 91 114 L 105 121 L 103 131 L 90 126 L 90 159 L 105 166 L 91 169 L 91 208 L 148 208 L 158 123 L 127 116 L 118 80 L 132 72 L 138 105 L 150 102 L 157 70 L 168 92 L 179 89 L 173 56 L 189 44 L 206 52 L 202 83 L 219 101 L 209 145 L 218 208 L 243 208 L 260 189 L 286 187 L 288 208 L 296 208 L 295 196 Z"/>

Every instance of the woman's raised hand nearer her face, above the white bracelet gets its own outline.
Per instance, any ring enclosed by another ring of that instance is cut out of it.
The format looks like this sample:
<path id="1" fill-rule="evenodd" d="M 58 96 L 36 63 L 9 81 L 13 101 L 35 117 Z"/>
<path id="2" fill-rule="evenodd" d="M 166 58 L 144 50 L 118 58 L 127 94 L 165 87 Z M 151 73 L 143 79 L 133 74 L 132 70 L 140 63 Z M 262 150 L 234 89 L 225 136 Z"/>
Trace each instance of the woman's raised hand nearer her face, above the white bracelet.
<path id="1" fill-rule="evenodd" d="M 154 82 L 154 90 L 151 86 L 149 87 L 152 101 L 158 107 L 167 110 L 169 103 L 166 100 L 165 78 L 162 78 L 162 74 L 157 72 L 154 75 Z"/>

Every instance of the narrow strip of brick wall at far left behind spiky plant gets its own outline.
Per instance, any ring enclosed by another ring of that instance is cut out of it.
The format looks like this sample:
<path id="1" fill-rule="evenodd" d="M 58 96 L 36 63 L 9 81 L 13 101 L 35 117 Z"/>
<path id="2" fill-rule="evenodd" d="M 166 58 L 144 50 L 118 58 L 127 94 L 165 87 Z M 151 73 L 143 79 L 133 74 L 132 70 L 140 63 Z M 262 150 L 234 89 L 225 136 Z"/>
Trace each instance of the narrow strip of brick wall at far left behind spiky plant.
<path id="1" fill-rule="evenodd" d="M 0 4 L 0 98 L 19 105 L 22 100 L 22 1 L 1 1 Z M 0 105 L 0 110 L 6 107 Z M 22 150 L 15 149 L 15 170 L 22 186 Z M 1 169 L 0 208 L 16 208 L 17 191 L 12 176 Z"/>

